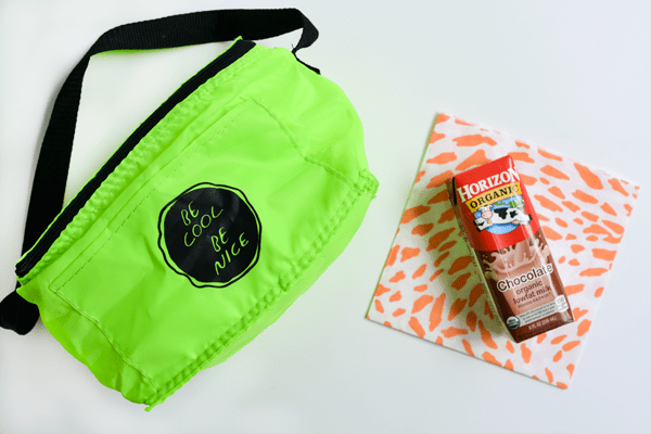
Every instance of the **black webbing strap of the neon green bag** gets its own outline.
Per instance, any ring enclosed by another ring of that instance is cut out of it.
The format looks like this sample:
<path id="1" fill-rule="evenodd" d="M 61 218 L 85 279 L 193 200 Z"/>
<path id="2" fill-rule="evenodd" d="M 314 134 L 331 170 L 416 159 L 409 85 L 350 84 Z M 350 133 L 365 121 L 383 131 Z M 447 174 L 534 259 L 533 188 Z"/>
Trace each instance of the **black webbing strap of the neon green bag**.
<path id="1" fill-rule="evenodd" d="M 296 54 L 319 36 L 316 27 L 296 9 L 194 12 L 126 24 L 103 34 L 68 75 L 54 102 L 31 186 L 23 254 L 31 248 L 63 207 L 81 84 L 93 54 L 224 42 L 240 36 L 248 40 L 266 39 L 299 28 L 303 28 L 303 34 L 292 50 Z M 0 327 L 4 329 L 26 334 L 38 317 L 37 306 L 25 301 L 16 291 L 0 302 Z"/>

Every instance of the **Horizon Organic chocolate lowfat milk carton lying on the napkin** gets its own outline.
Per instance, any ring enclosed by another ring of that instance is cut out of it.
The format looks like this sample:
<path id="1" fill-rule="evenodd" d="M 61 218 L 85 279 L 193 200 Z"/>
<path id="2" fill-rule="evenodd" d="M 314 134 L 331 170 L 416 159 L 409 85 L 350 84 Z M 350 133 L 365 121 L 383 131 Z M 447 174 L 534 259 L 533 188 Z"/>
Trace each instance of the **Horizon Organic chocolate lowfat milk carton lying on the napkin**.
<path id="1" fill-rule="evenodd" d="M 545 232 L 507 155 L 447 182 L 484 290 L 515 342 L 573 322 Z"/>

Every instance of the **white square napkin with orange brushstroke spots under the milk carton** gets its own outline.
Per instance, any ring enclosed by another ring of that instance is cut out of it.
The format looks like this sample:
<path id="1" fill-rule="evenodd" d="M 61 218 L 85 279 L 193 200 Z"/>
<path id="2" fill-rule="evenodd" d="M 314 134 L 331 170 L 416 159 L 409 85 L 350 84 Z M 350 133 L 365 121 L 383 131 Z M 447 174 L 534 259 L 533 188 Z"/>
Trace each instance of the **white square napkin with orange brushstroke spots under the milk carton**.
<path id="1" fill-rule="evenodd" d="M 490 309 L 445 188 L 452 175 L 506 154 L 526 184 L 575 319 L 521 344 Z M 566 388 L 638 189 L 566 155 L 441 114 L 367 318 Z"/>

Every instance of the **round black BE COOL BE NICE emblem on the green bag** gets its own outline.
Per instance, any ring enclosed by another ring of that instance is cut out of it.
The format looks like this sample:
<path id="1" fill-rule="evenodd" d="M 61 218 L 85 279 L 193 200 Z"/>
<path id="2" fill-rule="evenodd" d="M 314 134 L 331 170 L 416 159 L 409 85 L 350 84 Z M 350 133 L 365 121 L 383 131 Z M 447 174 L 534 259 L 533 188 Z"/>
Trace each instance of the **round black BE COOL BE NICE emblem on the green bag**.
<path id="1" fill-rule="evenodd" d="M 200 183 L 161 212 L 158 246 L 165 261 L 199 288 L 222 288 L 257 263 L 263 227 L 241 190 Z"/>

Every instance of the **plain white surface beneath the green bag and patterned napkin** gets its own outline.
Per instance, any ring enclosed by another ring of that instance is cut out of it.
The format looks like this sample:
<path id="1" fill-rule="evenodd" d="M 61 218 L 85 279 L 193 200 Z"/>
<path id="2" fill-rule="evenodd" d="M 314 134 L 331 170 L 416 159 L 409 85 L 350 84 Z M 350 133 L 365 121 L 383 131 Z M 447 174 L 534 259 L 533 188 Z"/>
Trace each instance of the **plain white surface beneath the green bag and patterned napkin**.
<path id="1" fill-rule="evenodd" d="M 53 99 L 90 44 L 119 24 L 242 7 L 297 7 L 319 28 L 299 55 L 357 108 L 380 180 L 361 229 L 277 323 L 150 413 L 40 322 L 0 330 L 0 433 L 651 432 L 648 1 L 0 0 L 0 295 Z M 93 60 L 67 197 L 224 47 Z M 642 184 L 567 391 L 365 319 L 442 111 Z"/>

